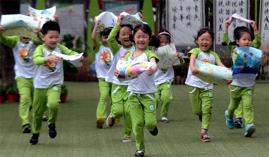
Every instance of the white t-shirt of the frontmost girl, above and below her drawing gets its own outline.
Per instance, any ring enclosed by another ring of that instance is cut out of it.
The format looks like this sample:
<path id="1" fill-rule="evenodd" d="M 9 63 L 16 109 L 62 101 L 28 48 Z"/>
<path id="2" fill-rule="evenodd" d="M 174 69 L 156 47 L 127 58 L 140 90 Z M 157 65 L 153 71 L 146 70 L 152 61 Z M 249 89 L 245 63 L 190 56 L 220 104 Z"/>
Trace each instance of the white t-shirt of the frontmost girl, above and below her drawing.
<path id="1" fill-rule="evenodd" d="M 149 62 L 150 58 L 155 57 L 156 62 L 158 62 L 157 55 L 146 49 L 144 53 L 139 56 L 133 57 L 134 52 L 130 52 L 125 56 L 125 60 L 128 61 L 141 61 L 141 62 Z M 148 94 L 157 91 L 155 81 L 153 76 L 149 76 L 146 72 L 143 72 L 138 78 L 128 81 L 128 89 L 127 91 L 131 91 L 137 94 Z"/>

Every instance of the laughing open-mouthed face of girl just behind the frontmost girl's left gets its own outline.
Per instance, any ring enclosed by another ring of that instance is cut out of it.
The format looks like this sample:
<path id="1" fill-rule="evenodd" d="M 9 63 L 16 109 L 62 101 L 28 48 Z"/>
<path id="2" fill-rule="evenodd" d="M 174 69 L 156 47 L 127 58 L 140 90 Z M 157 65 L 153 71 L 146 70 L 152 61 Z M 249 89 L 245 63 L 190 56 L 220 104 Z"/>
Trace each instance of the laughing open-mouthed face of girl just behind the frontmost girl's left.
<path id="1" fill-rule="evenodd" d="M 123 47 L 131 47 L 132 42 L 129 39 L 129 37 L 130 37 L 131 34 L 132 34 L 132 30 L 129 27 L 127 27 L 127 26 L 122 27 L 119 30 L 118 40 L 120 41 L 120 43 L 121 43 L 121 45 Z"/>

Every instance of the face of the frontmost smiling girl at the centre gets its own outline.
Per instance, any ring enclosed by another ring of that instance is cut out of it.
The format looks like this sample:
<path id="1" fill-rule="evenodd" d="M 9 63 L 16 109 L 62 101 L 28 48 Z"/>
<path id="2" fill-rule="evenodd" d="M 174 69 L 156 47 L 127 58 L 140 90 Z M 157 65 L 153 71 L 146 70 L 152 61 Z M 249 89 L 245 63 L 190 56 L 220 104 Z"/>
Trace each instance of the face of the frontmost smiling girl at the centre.
<path id="1" fill-rule="evenodd" d="M 145 50 L 150 42 L 150 36 L 147 33 L 144 33 L 141 29 L 139 29 L 134 34 L 134 43 L 136 45 L 136 49 Z"/>

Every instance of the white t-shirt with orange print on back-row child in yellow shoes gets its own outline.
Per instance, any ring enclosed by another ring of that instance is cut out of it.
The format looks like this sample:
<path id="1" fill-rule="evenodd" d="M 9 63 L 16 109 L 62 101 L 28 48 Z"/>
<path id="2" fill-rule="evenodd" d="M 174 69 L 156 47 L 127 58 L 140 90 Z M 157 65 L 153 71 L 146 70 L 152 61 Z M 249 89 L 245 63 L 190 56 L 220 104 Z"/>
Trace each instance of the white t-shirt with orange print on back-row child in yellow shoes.
<path id="1" fill-rule="evenodd" d="M 109 71 L 113 59 L 113 54 L 109 47 L 102 45 L 100 42 L 95 50 L 95 68 L 96 77 L 105 78 L 107 72 Z"/>

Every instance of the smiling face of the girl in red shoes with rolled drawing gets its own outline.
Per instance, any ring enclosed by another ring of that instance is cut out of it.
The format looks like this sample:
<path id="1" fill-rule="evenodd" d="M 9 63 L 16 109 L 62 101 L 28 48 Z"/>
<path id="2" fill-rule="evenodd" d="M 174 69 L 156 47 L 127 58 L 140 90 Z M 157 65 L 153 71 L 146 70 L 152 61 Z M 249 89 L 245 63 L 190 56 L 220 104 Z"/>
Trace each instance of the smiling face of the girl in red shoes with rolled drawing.
<path id="1" fill-rule="evenodd" d="M 208 32 L 205 32 L 197 39 L 197 43 L 203 52 L 209 52 L 213 44 L 212 37 Z"/>

